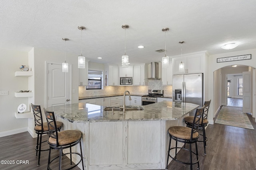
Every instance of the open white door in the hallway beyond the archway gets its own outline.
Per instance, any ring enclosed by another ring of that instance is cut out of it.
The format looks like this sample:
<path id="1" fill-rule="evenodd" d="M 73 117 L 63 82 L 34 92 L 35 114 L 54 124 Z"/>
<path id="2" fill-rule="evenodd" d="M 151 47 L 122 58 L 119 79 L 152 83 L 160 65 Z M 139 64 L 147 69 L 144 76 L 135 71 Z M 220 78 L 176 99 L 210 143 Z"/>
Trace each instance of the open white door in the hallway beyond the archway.
<path id="1" fill-rule="evenodd" d="M 243 112 L 252 113 L 252 76 L 250 71 L 243 72 Z"/>

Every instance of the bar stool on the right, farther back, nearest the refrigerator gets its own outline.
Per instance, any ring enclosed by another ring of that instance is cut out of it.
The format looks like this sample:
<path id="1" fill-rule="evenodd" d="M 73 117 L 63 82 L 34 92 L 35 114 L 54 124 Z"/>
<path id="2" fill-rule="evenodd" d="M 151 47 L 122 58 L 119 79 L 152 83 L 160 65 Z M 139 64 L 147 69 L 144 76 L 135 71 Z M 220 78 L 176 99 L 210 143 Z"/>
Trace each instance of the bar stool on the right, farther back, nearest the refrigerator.
<path id="1" fill-rule="evenodd" d="M 200 123 L 199 123 L 199 129 L 203 131 L 203 134 L 200 134 L 203 136 L 203 141 L 198 141 L 198 142 L 204 143 L 204 154 L 205 155 L 206 155 L 206 146 L 207 146 L 206 141 L 208 141 L 208 138 L 205 135 L 205 127 L 209 123 L 207 120 L 207 117 L 208 117 L 210 103 L 211 103 L 211 100 L 204 102 L 204 113 L 203 113 L 202 119 L 200 120 Z M 188 116 L 188 117 L 184 118 L 184 121 L 187 124 L 187 127 L 192 127 L 193 118 L 194 118 L 194 116 Z"/>

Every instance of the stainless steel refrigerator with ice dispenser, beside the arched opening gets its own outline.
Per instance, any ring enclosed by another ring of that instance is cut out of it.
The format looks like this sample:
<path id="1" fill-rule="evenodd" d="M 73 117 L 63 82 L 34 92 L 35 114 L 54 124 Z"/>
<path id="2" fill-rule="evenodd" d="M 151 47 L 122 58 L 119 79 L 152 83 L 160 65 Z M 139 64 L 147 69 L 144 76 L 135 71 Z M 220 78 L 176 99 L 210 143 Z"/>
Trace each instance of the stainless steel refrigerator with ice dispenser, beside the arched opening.
<path id="1" fill-rule="evenodd" d="M 172 100 L 203 106 L 203 77 L 203 73 L 173 75 Z"/>

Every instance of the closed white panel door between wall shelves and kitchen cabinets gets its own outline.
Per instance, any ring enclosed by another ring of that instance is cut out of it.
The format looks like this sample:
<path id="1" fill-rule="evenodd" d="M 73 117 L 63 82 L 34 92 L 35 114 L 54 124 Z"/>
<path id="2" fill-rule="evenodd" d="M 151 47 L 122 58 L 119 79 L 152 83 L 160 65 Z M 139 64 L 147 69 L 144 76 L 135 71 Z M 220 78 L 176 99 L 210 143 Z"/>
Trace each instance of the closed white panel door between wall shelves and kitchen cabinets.
<path id="1" fill-rule="evenodd" d="M 62 64 L 48 63 L 47 107 L 70 104 L 70 72 Z"/>

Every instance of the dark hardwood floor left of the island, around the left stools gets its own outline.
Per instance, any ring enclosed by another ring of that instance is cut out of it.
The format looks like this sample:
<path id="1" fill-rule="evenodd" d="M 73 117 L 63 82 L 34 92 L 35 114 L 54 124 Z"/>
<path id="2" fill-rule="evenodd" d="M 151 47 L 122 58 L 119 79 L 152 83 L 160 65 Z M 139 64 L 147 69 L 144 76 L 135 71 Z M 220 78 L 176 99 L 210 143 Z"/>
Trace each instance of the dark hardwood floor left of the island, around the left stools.
<path id="1" fill-rule="evenodd" d="M 40 166 L 37 166 L 36 139 L 32 138 L 28 132 L 18 133 L 6 137 L 0 137 L 0 160 L 14 161 L 14 164 L 0 164 L 0 170 L 47 170 L 49 151 L 41 152 Z M 48 135 L 43 136 L 44 140 Z M 44 148 L 48 147 L 47 142 Z M 58 156 L 58 150 L 52 150 L 51 158 Z M 20 162 L 21 160 L 21 162 Z M 51 168 L 58 170 L 58 159 L 52 163 Z M 28 163 L 26 163 L 26 161 Z M 70 159 L 66 156 L 62 158 L 62 169 L 70 168 Z M 80 170 L 75 167 L 73 170 Z"/>

